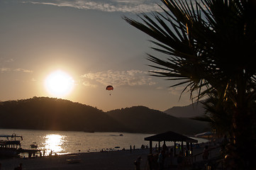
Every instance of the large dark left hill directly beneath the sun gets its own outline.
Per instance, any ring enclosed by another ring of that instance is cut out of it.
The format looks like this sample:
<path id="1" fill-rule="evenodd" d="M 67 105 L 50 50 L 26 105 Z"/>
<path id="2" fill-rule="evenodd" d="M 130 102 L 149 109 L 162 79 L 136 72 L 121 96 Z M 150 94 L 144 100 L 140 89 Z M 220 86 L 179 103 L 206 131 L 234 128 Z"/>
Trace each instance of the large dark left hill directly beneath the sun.
<path id="1" fill-rule="evenodd" d="M 0 103 L 0 128 L 115 131 L 128 129 L 97 108 L 59 98 Z"/>

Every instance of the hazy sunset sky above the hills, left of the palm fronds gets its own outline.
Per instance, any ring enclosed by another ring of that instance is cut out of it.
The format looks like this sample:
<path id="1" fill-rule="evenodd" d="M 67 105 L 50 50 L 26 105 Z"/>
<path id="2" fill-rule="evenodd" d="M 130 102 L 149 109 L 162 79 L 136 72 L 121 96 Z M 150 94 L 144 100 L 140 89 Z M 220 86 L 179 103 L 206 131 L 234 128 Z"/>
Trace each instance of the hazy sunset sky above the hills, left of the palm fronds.
<path id="1" fill-rule="evenodd" d="M 122 19 L 139 20 L 136 13 L 160 11 L 157 4 L 162 5 L 160 0 L 1 0 L 0 101 L 48 96 L 102 111 L 132 106 L 165 111 L 190 104 L 189 93 L 179 98 L 184 87 L 169 88 L 174 81 L 150 76 L 154 68 L 146 54 L 155 54 L 152 38 Z M 64 81 L 57 86 L 60 77 Z M 113 91 L 106 91 L 108 85 Z M 62 88 L 67 88 L 63 94 Z"/>

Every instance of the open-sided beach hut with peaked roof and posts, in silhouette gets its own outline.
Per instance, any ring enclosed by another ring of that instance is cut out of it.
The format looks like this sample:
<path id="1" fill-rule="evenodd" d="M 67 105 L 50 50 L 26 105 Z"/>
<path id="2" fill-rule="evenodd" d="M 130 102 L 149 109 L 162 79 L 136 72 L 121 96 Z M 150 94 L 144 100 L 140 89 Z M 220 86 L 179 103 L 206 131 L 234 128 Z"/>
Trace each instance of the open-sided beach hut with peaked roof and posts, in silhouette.
<path id="1" fill-rule="evenodd" d="M 179 133 L 168 131 L 163 132 L 157 135 L 152 135 L 150 137 L 145 137 L 144 140 L 150 141 L 150 154 L 152 154 L 152 142 L 158 142 L 159 152 L 160 152 L 160 142 L 174 142 L 174 146 L 176 146 L 176 142 L 182 142 L 182 152 L 184 150 L 183 142 L 187 143 L 187 150 L 191 151 L 191 155 L 193 155 L 192 143 L 197 143 L 197 140 L 194 140 L 190 137 L 180 135 Z M 190 149 L 189 149 L 190 147 Z M 176 149 L 174 149 L 174 155 L 176 154 Z"/>

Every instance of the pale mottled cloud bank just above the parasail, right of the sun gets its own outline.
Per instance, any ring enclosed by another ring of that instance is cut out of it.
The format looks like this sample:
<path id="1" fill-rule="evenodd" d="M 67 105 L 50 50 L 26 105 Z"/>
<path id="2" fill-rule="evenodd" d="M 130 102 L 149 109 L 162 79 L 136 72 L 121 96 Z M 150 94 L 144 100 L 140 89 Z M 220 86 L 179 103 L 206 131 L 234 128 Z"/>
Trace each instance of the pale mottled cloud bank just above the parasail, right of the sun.
<path id="1" fill-rule="evenodd" d="M 143 86 L 154 85 L 155 81 L 152 81 L 148 72 L 141 70 L 128 70 L 128 71 L 113 71 L 108 70 L 106 72 L 95 72 L 82 75 L 84 86 L 96 86 L 91 83 L 96 81 L 97 83 L 114 86 Z"/>

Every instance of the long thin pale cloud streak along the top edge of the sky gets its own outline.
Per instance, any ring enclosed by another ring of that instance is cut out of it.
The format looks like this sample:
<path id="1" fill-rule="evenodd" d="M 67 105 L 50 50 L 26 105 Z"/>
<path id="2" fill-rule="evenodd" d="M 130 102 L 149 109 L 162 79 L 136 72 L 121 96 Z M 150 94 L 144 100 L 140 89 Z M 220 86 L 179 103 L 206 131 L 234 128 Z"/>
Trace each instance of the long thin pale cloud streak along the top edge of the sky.
<path id="1" fill-rule="evenodd" d="M 94 9 L 107 12 L 149 12 L 160 11 L 160 7 L 157 5 L 160 1 L 154 0 L 30 0 L 23 1 L 23 3 L 31 4 L 44 4 L 52 6 L 68 6 L 72 8 L 80 9 Z"/>

